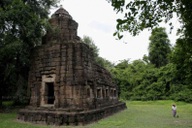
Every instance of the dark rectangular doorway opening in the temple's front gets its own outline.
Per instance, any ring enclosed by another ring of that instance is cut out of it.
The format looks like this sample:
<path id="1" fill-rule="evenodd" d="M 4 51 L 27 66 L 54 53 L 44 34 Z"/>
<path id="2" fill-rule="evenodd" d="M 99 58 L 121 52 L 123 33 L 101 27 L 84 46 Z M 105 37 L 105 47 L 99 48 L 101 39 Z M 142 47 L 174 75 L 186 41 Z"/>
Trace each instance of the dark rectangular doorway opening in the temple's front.
<path id="1" fill-rule="evenodd" d="M 55 96 L 54 96 L 54 84 L 46 83 L 47 87 L 47 104 L 54 104 Z"/>

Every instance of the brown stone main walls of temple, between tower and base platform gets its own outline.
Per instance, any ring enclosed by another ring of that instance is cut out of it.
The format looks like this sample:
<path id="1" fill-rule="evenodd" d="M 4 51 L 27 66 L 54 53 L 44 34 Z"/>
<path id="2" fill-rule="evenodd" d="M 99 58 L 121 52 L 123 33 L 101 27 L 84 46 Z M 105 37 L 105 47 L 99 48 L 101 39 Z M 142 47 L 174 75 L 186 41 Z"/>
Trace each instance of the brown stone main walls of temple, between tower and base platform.
<path id="1" fill-rule="evenodd" d="M 92 53 L 86 44 L 77 41 L 47 44 L 36 49 L 29 73 L 30 105 L 43 105 L 42 76 L 50 79 L 51 75 L 55 75 L 52 80 L 55 107 L 89 109 L 115 103 L 117 94 L 111 95 L 110 90 L 116 86 L 109 72 L 94 63 Z"/>

